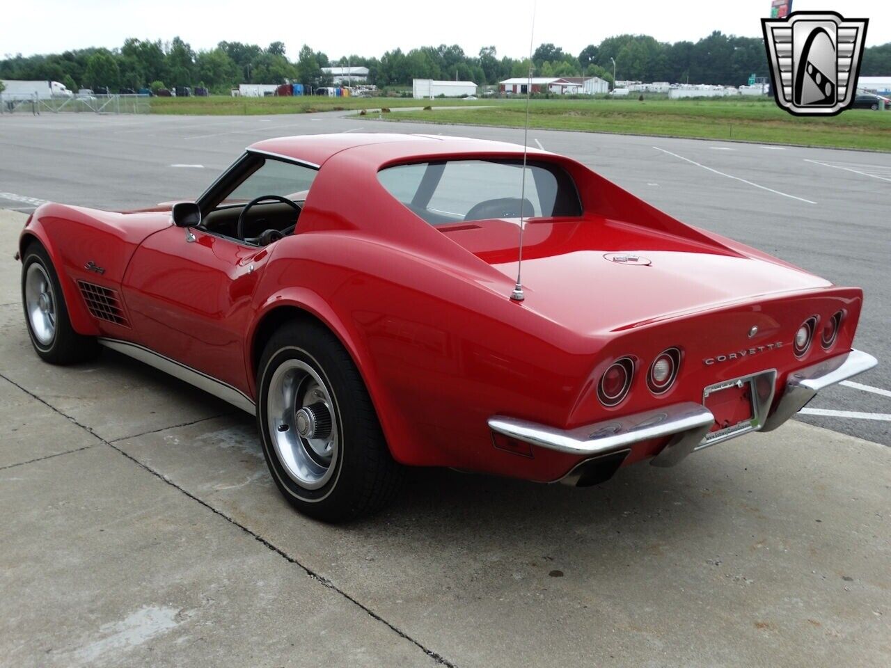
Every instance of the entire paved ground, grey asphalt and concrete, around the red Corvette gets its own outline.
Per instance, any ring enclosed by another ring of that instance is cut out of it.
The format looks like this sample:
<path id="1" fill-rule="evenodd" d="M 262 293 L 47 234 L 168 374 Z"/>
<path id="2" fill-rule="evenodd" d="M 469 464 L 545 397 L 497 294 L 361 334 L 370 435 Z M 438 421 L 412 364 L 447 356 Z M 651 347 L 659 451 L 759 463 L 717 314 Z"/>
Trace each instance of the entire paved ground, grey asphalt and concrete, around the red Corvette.
<path id="1" fill-rule="evenodd" d="M 0 118 L 0 206 L 24 211 L 0 212 L 0 664 L 891 663 L 887 421 L 804 416 L 821 427 L 791 421 L 590 490 L 421 470 L 392 509 L 331 527 L 282 500 L 248 416 L 110 351 L 64 369 L 33 354 L 12 252 L 39 200 L 190 197 L 248 143 L 365 126 Z M 857 380 L 891 388 L 887 156 L 530 141 L 683 220 L 862 285 L 857 345 L 880 366 Z M 891 412 L 857 387 L 819 402 Z"/>

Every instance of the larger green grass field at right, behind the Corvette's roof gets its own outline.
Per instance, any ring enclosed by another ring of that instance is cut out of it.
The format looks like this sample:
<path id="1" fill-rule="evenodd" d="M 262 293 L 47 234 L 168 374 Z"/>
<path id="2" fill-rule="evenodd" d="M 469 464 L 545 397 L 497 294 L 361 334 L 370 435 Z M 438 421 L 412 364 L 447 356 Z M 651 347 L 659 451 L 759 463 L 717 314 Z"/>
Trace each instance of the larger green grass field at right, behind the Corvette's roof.
<path id="1" fill-rule="evenodd" d="M 520 127 L 525 112 L 525 102 L 511 101 L 490 109 L 400 111 L 387 120 Z M 891 111 L 799 118 L 772 100 L 533 100 L 529 126 L 891 151 Z"/>

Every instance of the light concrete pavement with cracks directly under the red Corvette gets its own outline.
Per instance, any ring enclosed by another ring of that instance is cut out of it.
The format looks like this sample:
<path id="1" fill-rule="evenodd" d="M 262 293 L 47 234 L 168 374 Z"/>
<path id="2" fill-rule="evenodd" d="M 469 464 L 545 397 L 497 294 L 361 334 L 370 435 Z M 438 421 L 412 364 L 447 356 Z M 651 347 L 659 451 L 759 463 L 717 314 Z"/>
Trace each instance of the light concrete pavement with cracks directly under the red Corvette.
<path id="1" fill-rule="evenodd" d="M 790 422 L 589 490 L 415 471 L 295 514 L 253 421 L 30 350 L 0 212 L 0 664 L 891 663 L 891 451 Z"/>

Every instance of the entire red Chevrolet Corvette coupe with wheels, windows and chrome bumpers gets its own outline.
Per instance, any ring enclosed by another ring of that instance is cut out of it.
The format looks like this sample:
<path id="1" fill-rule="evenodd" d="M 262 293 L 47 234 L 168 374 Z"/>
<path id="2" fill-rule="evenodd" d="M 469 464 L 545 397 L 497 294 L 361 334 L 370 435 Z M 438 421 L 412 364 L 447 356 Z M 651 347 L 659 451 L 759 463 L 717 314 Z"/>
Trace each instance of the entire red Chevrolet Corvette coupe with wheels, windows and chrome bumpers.
<path id="1" fill-rule="evenodd" d="M 276 485 L 329 521 L 404 465 L 670 466 L 876 363 L 851 347 L 861 289 L 507 143 L 272 139 L 194 202 L 46 204 L 19 252 L 46 362 L 106 346 L 256 413 Z"/>

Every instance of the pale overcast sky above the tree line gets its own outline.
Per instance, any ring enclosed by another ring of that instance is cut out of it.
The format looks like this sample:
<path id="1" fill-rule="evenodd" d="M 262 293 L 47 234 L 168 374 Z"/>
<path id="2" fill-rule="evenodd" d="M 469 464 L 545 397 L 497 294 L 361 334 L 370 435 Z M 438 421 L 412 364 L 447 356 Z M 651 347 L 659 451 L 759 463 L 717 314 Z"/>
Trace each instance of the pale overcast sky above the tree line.
<path id="1" fill-rule="evenodd" d="M 291 59 L 304 43 L 331 58 L 439 44 L 458 44 L 469 54 L 495 45 L 499 55 L 519 58 L 528 53 L 532 6 L 533 0 L 11 0 L 0 20 L 0 55 L 178 35 L 196 50 L 222 40 L 282 41 Z M 891 42 L 889 0 L 794 0 L 793 7 L 869 18 L 867 45 Z M 770 0 L 538 0 L 535 44 L 552 42 L 577 55 L 621 33 L 662 42 L 696 41 L 712 30 L 761 37 L 759 20 L 769 10 Z"/>

